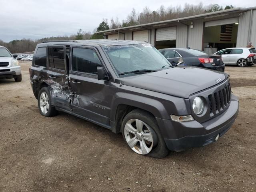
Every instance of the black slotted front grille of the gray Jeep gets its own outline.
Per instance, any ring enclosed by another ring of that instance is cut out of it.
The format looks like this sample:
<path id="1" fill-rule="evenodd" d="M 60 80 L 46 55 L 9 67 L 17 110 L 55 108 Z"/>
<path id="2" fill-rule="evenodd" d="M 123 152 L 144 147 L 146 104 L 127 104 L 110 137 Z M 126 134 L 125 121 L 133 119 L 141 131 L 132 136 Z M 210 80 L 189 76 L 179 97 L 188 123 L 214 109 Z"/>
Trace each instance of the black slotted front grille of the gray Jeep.
<path id="1" fill-rule="evenodd" d="M 221 90 L 208 95 L 208 100 L 210 116 L 214 116 L 225 110 L 229 106 L 231 100 L 230 84 L 225 84 Z"/>

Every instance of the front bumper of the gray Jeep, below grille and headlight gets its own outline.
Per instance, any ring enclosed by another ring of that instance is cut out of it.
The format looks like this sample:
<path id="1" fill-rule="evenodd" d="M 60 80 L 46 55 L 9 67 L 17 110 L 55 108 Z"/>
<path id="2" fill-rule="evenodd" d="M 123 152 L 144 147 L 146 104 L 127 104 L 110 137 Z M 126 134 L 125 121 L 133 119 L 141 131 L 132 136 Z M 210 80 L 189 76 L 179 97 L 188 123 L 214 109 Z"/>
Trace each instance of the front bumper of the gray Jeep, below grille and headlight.
<path id="1" fill-rule="evenodd" d="M 238 98 L 232 94 L 230 106 L 225 112 L 201 124 L 196 120 L 189 122 L 174 122 L 160 118 L 156 120 L 165 136 L 168 149 L 178 152 L 214 142 L 218 134 L 222 136 L 231 128 L 238 116 L 238 111 Z"/>

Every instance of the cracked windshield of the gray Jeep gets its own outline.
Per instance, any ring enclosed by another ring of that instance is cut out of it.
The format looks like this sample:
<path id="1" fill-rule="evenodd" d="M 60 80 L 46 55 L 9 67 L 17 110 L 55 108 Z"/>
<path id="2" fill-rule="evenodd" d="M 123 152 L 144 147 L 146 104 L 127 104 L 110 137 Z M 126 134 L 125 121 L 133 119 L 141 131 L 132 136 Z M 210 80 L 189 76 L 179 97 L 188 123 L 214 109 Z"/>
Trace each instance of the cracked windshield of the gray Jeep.
<path id="1" fill-rule="evenodd" d="M 148 43 L 103 46 L 117 75 L 136 70 L 162 70 L 170 63 L 156 48 Z"/>

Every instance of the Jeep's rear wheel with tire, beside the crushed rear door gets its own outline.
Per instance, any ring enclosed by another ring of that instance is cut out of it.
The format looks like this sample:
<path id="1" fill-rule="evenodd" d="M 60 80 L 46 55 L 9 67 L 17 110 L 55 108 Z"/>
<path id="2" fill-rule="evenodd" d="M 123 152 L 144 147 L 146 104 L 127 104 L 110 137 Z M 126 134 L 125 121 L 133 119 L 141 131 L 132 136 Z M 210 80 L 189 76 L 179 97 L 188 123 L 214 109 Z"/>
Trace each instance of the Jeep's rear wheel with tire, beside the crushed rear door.
<path id="1" fill-rule="evenodd" d="M 38 108 L 40 114 L 46 117 L 57 115 L 58 111 L 51 104 L 50 91 L 48 87 L 43 87 L 38 93 Z"/>

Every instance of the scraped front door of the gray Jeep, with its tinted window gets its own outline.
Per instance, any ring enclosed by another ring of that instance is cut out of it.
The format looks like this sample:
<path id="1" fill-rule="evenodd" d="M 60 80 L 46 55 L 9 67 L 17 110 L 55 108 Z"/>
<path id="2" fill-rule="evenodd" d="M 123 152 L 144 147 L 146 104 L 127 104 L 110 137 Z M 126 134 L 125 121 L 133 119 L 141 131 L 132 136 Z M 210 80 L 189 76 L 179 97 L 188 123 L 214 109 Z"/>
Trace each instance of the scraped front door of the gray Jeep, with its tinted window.
<path id="1" fill-rule="evenodd" d="M 86 46 L 71 46 L 70 51 L 72 111 L 88 120 L 109 126 L 110 102 L 106 98 L 111 93 L 107 82 L 98 80 L 97 66 L 103 63 L 98 51 Z"/>

